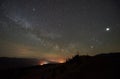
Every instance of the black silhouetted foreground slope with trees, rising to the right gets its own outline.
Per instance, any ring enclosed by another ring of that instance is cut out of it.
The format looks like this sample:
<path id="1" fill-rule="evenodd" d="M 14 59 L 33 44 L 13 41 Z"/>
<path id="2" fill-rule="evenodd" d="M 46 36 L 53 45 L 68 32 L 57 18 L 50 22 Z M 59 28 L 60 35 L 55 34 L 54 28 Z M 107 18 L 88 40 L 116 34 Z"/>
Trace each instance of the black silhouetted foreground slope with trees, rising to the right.
<path id="1" fill-rule="evenodd" d="M 1 70 L 0 79 L 120 79 L 120 53 L 76 55 L 63 64 Z"/>

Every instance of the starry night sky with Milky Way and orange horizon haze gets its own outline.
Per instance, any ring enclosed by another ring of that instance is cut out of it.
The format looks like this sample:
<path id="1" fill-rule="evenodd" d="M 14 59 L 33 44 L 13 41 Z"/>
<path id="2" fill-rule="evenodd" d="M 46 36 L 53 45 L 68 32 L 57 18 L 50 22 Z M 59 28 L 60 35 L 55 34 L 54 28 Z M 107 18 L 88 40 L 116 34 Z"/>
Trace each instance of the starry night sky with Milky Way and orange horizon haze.
<path id="1" fill-rule="evenodd" d="M 0 57 L 62 60 L 120 52 L 119 0 L 0 0 Z"/>

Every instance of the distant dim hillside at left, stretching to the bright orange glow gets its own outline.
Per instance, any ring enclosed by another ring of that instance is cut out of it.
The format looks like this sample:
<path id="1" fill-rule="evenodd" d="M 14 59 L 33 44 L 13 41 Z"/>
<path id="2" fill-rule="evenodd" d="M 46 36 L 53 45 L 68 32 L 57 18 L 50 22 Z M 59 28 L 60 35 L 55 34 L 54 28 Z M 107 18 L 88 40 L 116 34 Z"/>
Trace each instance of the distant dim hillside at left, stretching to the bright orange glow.
<path id="1" fill-rule="evenodd" d="M 38 65 L 39 60 L 33 58 L 0 57 L 0 70 L 15 69 Z"/>

